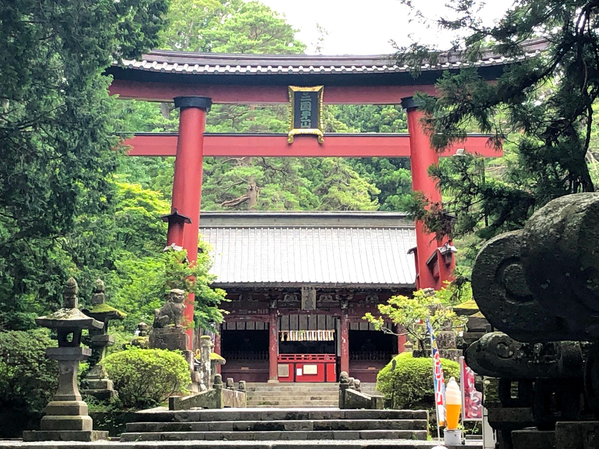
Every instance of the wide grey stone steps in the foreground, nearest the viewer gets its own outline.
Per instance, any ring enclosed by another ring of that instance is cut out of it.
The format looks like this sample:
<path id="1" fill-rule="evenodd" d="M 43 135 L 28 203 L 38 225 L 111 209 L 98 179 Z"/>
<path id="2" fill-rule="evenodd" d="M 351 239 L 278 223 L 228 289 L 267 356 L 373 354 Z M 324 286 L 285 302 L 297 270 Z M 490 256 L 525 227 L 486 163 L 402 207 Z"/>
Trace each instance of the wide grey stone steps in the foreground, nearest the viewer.
<path id="1" fill-rule="evenodd" d="M 398 448 L 397 440 L 426 441 L 427 417 L 410 410 L 152 409 L 138 412 L 120 441 L 304 441 L 302 448 L 316 448 L 323 440 L 396 440 Z"/>

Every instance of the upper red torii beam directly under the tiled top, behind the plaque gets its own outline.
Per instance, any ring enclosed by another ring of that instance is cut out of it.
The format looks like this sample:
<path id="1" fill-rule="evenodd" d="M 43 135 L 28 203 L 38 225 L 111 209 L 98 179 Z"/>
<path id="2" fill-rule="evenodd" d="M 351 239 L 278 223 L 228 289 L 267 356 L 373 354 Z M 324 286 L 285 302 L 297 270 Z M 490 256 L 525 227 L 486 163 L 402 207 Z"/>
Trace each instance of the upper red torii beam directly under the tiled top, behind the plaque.
<path id="1" fill-rule="evenodd" d="M 110 95 L 123 99 L 172 102 L 176 96 L 202 95 L 214 104 L 280 104 L 289 102 L 287 86 L 243 86 L 236 84 L 173 84 L 113 80 Z M 415 92 L 435 95 L 432 84 L 413 86 L 326 86 L 323 102 L 328 104 L 400 104 Z"/>

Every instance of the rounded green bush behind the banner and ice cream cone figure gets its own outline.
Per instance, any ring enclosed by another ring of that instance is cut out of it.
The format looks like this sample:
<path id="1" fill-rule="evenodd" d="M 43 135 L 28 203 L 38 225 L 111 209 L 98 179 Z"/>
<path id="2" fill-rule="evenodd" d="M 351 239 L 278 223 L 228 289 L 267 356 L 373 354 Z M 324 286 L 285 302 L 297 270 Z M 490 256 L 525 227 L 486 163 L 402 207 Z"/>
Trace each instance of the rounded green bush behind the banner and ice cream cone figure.
<path id="1" fill-rule="evenodd" d="M 435 405 L 432 383 L 432 359 L 412 357 L 412 353 L 402 353 L 394 358 L 396 365 L 392 371 L 390 362 L 379 371 L 376 387 L 386 399 L 391 399 L 392 408 L 431 409 Z M 441 359 L 445 380 L 459 379 L 459 363 Z"/>

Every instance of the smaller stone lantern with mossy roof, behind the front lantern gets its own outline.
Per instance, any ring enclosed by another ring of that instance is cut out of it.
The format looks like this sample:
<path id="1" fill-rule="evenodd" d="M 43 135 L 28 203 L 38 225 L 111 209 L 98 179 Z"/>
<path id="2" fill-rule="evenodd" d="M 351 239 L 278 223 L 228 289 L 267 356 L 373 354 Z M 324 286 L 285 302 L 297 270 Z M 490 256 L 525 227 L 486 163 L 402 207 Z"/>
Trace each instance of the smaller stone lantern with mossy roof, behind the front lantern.
<path id="1" fill-rule="evenodd" d="M 95 396 L 100 400 L 111 399 L 116 396 L 113 383 L 99 362 L 104 359 L 106 348 L 114 344 L 114 336 L 108 335 L 108 322 L 110 320 L 122 320 L 126 314 L 106 304 L 105 286 L 101 279 L 96 280 L 92 295 L 92 305 L 83 309 L 86 315 L 104 323 L 101 329 L 89 330 L 89 346 L 92 348 L 92 356 L 89 358 L 90 369 L 87 373 L 88 389 L 83 393 Z"/>

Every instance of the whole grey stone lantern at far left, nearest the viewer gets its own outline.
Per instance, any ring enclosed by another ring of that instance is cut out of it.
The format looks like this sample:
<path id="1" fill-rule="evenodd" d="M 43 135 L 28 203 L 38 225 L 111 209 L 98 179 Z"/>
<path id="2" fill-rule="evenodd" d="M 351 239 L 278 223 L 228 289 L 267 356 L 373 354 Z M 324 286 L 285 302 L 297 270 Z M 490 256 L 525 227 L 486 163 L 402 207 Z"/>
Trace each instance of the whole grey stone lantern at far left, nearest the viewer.
<path id="1" fill-rule="evenodd" d="M 40 429 L 23 432 L 23 441 L 95 441 L 106 439 L 108 432 L 92 430 L 87 404 L 77 388 L 79 362 L 92 353 L 81 347 L 83 329 L 102 329 L 104 323 L 83 314 L 77 308 L 77 282 L 66 282 L 62 308 L 35 318 L 35 322 L 58 332 L 58 347 L 46 348 L 46 356 L 58 360 L 58 391 L 46 406 Z"/>

